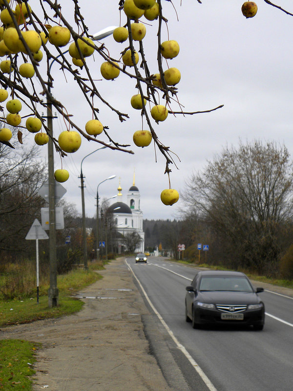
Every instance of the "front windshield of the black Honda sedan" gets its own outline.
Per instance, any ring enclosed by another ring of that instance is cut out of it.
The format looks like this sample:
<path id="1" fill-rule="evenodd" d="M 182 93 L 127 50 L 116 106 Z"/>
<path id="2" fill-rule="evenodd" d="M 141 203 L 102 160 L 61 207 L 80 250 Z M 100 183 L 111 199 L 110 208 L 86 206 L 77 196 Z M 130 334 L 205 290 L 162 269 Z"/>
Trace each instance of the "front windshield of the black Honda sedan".
<path id="1" fill-rule="evenodd" d="M 203 276 L 200 282 L 200 291 L 230 291 L 253 292 L 251 284 L 245 277 L 236 276 Z"/>

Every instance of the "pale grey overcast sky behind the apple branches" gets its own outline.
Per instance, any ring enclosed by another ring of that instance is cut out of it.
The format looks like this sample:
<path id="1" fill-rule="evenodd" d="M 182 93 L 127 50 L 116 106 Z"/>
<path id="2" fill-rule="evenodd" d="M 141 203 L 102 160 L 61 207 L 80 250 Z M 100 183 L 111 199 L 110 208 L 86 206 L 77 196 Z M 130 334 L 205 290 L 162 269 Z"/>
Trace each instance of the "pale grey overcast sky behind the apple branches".
<path id="1" fill-rule="evenodd" d="M 278 5 L 293 12 L 292 1 L 280 1 Z M 101 2 L 101 8 L 98 8 L 99 1 L 80 1 L 90 33 L 94 34 L 109 25 L 119 25 L 118 2 L 108 0 L 107 7 L 105 2 Z M 33 3 L 30 1 L 31 5 Z M 199 4 L 196 0 L 182 0 L 181 6 L 180 3 L 179 0 L 173 1 L 179 18 L 177 21 L 171 2 L 163 1 L 164 16 L 169 21 L 169 39 L 176 40 L 180 45 L 179 55 L 168 61 L 170 67 L 175 66 L 181 71 L 179 102 L 185 111 L 208 110 L 224 105 L 222 109 L 205 114 L 186 117 L 169 114 L 167 120 L 159 125 L 153 121 L 161 142 L 169 146 L 180 159 L 173 155 L 178 169 L 174 164 L 171 165 L 170 178 L 171 187 L 183 192 L 192 172 L 203 170 L 207 160 L 212 160 L 226 145 L 237 146 L 239 139 L 243 142 L 274 140 L 285 144 L 289 152 L 293 153 L 293 17 L 263 0 L 257 1 L 258 12 L 251 19 L 242 15 L 242 1 L 203 0 Z M 66 7 L 63 9 L 65 17 Z M 122 25 L 126 23 L 124 13 L 121 20 Z M 141 22 L 152 24 L 146 25 L 144 44 L 150 71 L 157 73 L 158 21 L 148 22 L 142 17 Z M 162 31 L 162 41 L 167 40 L 165 26 Z M 119 58 L 119 53 L 126 47 L 126 43 L 116 43 L 112 37 L 105 38 L 103 42 L 114 58 Z M 101 63 L 102 59 L 96 55 L 96 74 L 93 71 L 95 79 L 101 79 Z M 74 114 L 74 121 L 84 129 L 86 121 L 91 119 L 90 108 L 70 78 L 67 78 L 66 84 L 58 68 L 58 65 L 52 66 L 52 76 L 57 82 L 52 92 L 56 99 L 63 102 L 67 111 Z M 163 68 L 167 68 L 166 62 Z M 104 126 L 109 127 L 113 139 L 122 144 L 131 144 L 130 149 L 135 154 L 104 149 L 84 160 L 86 215 L 95 215 L 97 185 L 110 175 L 117 177 L 99 187 L 100 202 L 117 195 L 119 178 L 126 202 L 135 170 L 135 185 L 140 190 L 144 218 L 177 217 L 182 201 L 179 199 L 177 204 L 170 207 L 160 200 L 161 191 L 168 188 L 168 178 L 164 174 L 165 159 L 158 151 L 155 154 L 153 144 L 141 149 L 132 141 L 134 131 L 140 130 L 142 126 L 140 111 L 130 106 L 131 96 L 137 93 L 135 81 L 121 74 L 115 81 L 103 80 L 97 83 L 102 96 L 112 106 L 130 116 L 129 120 L 121 123 L 105 105 L 95 101 L 95 106 L 101 112 L 99 119 Z M 175 102 L 172 109 L 178 111 Z M 56 138 L 59 132 L 66 130 L 61 118 L 53 120 L 53 128 Z M 105 136 L 101 139 L 106 141 Z M 64 198 L 76 204 L 79 212 L 81 161 L 98 147 L 95 143 L 83 140 L 78 152 L 63 160 L 63 168 L 70 173 L 70 178 L 63 184 L 67 189 Z M 42 155 L 46 156 L 46 147 L 42 147 Z M 57 168 L 61 168 L 61 165 L 56 153 Z M 116 199 L 111 201 L 115 202 Z"/>

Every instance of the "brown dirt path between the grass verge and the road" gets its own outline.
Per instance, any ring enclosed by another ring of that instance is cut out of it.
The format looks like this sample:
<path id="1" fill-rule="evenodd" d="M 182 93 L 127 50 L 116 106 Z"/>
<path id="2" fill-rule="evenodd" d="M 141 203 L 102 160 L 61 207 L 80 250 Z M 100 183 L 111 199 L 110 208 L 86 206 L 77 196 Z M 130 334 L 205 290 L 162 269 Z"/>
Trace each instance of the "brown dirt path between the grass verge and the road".
<path id="1" fill-rule="evenodd" d="M 76 315 L 7 327 L 0 338 L 42 343 L 34 391 L 172 391 L 149 354 L 141 321 L 149 312 L 124 260 L 99 273 Z"/>

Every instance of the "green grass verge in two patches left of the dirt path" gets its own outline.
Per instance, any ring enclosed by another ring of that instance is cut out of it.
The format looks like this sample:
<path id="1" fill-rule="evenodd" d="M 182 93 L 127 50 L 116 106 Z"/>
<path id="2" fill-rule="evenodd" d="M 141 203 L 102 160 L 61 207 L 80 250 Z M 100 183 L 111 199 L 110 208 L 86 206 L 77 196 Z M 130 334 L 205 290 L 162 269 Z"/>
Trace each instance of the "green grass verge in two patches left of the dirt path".
<path id="1" fill-rule="evenodd" d="M 0 327 L 30 323 L 36 320 L 57 318 L 78 312 L 84 303 L 72 297 L 85 286 L 102 278 L 96 270 L 103 269 L 101 263 L 90 263 L 89 270 L 77 268 L 58 276 L 59 306 L 49 307 L 42 287 L 39 304 L 36 297 L 23 300 L 0 300 Z M 36 349 L 40 345 L 22 340 L 0 340 L 0 391 L 32 391 L 36 361 Z"/>

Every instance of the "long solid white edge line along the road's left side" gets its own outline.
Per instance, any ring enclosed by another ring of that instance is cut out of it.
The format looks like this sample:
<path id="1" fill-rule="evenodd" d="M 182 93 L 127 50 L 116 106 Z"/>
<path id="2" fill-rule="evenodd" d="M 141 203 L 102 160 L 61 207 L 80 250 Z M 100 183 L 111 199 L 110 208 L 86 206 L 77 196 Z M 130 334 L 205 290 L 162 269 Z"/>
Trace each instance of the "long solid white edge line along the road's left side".
<path id="1" fill-rule="evenodd" d="M 162 318 L 162 316 L 159 314 L 159 312 L 156 310 L 156 308 L 154 307 L 154 305 L 152 304 L 152 302 L 149 300 L 147 294 L 146 294 L 146 291 L 145 289 L 143 288 L 142 284 L 140 283 L 140 281 L 138 280 L 138 278 L 136 277 L 136 275 L 134 274 L 131 266 L 128 264 L 127 260 L 126 260 L 126 264 L 127 266 L 129 267 L 131 273 L 133 274 L 134 278 L 136 279 L 137 283 L 139 284 L 141 290 L 143 291 L 143 294 L 145 295 L 146 297 L 146 300 L 148 302 L 148 304 L 151 306 L 152 310 L 154 311 L 154 313 L 157 315 L 157 317 L 159 318 L 160 322 L 162 323 L 162 325 L 166 328 L 168 334 L 170 335 L 170 337 L 172 338 L 172 340 L 174 341 L 176 347 L 182 351 L 182 353 L 185 355 L 185 357 L 188 359 L 189 363 L 192 365 L 192 367 L 197 371 L 197 373 L 199 374 L 199 376 L 201 377 L 201 379 L 203 380 L 203 382 L 206 384 L 206 386 L 208 387 L 208 389 L 210 391 L 217 391 L 217 389 L 214 387 L 214 385 L 211 383 L 211 381 L 209 380 L 208 376 L 205 374 L 205 372 L 199 367 L 199 365 L 196 363 L 195 360 L 193 360 L 193 358 L 191 357 L 191 355 L 188 353 L 188 351 L 186 350 L 186 348 L 180 344 L 180 342 L 177 340 L 177 338 L 175 337 L 175 335 L 173 334 L 173 332 L 171 331 L 171 329 L 167 326 L 166 322 L 164 321 L 164 319 Z M 159 266 L 158 266 L 159 267 Z M 164 268 L 163 268 L 164 269 Z M 175 273 L 177 274 L 177 273 Z M 181 276 L 181 277 L 184 277 L 184 276 Z M 184 277 L 186 278 L 186 277 Z"/>

